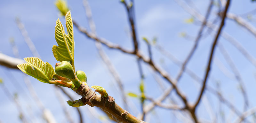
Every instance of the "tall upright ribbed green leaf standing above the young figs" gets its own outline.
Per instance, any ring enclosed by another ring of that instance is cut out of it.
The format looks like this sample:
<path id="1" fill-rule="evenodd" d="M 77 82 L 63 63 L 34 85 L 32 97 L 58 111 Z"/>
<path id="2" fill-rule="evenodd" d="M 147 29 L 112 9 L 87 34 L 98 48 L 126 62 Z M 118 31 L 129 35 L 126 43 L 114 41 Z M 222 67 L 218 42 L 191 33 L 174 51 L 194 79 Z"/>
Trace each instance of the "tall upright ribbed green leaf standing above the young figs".
<path id="1" fill-rule="evenodd" d="M 70 61 L 74 62 L 74 38 L 73 38 L 73 22 L 71 19 L 70 11 L 66 14 L 66 27 L 68 34 L 65 34 L 63 25 L 60 19 L 57 19 L 55 26 L 55 40 L 58 46 L 53 45 L 53 56 L 57 61 Z"/>

